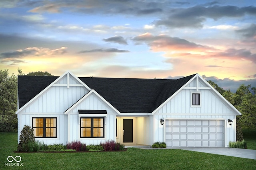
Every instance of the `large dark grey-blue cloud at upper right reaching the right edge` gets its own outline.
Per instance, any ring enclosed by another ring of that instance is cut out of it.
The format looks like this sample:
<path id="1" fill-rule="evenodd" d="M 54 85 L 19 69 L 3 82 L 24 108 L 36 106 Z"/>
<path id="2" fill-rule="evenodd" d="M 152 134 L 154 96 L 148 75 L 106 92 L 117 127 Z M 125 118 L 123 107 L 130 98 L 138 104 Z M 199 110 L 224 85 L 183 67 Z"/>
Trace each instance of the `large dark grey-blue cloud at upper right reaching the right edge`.
<path id="1" fill-rule="evenodd" d="M 218 20 L 224 17 L 242 17 L 246 14 L 256 15 L 256 7 L 237 6 L 194 6 L 190 8 L 170 9 L 168 17 L 154 21 L 156 26 L 165 25 L 167 27 L 203 27 L 203 22 L 207 18 Z"/>

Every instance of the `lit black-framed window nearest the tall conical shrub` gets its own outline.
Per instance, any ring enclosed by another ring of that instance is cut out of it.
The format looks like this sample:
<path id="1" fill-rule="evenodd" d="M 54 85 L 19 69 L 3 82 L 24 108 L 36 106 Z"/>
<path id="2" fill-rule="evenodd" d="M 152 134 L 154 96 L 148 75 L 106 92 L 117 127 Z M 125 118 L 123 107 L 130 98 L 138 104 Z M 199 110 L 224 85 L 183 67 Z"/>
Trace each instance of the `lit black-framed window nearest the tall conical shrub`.
<path id="1" fill-rule="evenodd" d="M 35 137 L 57 137 L 57 117 L 32 117 Z"/>

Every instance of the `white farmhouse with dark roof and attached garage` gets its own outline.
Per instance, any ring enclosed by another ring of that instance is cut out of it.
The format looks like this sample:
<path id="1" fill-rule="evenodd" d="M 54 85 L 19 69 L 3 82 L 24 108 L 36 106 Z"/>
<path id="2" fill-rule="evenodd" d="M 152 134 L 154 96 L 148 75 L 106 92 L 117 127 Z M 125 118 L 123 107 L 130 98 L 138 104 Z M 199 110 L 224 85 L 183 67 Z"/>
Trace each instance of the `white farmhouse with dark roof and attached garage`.
<path id="1" fill-rule="evenodd" d="M 45 144 L 160 141 L 167 147 L 228 147 L 236 141 L 236 116 L 241 115 L 199 74 L 169 80 L 71 72 L 18 76 L 16 114 L 18 142 L 28 125 Z"/>

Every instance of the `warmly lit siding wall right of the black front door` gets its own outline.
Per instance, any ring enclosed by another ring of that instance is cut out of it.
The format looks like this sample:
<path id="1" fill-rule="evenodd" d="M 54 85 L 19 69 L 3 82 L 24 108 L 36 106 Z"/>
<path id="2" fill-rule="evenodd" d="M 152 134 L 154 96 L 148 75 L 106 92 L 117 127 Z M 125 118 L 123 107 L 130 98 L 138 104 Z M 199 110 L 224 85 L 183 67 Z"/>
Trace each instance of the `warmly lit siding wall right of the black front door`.
<path id="1" fill-rule="evenodd" d="M 140 145 L 153 144 L 153 115 L 137 117 L 136 143 Z"/>

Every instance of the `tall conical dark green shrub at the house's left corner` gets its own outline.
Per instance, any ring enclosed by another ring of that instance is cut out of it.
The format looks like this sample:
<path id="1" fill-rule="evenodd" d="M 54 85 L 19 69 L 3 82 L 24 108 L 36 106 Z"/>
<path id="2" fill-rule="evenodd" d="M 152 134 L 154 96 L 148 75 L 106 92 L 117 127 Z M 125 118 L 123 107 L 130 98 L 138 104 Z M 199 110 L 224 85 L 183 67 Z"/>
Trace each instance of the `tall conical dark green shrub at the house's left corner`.
<path id="1" fill-rule="evenodd" d="M 27 152 L 28 142 L 35 142 L 34 131 L 30 126 L 25 125 L 20 132 L 20 143 L 17 150 Z"/>

